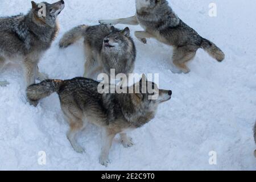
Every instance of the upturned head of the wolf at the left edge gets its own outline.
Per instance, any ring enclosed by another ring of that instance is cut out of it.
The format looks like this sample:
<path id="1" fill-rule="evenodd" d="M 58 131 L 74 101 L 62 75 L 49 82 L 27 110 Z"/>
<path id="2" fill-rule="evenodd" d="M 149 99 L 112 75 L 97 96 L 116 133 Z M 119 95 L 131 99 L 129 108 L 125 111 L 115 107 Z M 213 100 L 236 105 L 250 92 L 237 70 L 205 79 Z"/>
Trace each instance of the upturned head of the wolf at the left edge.
<path id="1" fill-rule="evenodd" d="M 34 14 L 35 22 L 38 24 L 47 24 L 54 28 L 57 16 L 64 9 L 65 3 L 63 0 L 49 4 L 47 2 L 32 3 L 32 13 Z"/>

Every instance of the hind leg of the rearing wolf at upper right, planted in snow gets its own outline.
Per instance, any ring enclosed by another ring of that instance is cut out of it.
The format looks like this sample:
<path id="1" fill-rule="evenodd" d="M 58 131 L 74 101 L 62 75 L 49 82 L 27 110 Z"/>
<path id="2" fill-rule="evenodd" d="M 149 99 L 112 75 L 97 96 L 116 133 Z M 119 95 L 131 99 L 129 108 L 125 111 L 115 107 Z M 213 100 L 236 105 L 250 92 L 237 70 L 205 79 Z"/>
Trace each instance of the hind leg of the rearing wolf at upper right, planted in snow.
<path id="1" fill-rule="evenodd" d="M 181 69 L 183 73 L 189 73 L 190 69 L 186 63 L 192 60 L 196 55 L 196 51 L 189 51 L 187 47 L 175 48 L 172 56 L 174 65 Z"/>

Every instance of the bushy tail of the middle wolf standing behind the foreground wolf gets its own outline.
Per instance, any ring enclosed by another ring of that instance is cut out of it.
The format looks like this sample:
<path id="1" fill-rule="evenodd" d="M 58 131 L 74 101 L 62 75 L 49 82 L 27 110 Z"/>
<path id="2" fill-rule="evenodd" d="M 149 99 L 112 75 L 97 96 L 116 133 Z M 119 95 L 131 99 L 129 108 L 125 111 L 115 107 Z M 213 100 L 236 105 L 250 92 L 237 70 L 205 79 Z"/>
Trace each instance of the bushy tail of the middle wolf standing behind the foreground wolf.
<path id="1" fill-rule="evenodd" d="M 88 28 L 88 26 L 82 24 L 66 32 L 60 39 L 60 48 L 66 48 L 81 39 L 85 34 L 86 28 Z"/>

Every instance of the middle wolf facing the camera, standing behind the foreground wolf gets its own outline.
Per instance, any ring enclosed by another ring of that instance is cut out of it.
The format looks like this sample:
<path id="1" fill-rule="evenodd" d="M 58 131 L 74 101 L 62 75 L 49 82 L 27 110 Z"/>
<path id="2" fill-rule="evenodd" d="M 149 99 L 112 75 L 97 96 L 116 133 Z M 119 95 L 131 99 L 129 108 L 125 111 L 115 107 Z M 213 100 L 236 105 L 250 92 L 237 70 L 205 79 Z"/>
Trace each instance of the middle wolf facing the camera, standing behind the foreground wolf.
<path id="1" fill-rule="evenodd" d="M 136 48 L 128 27 L 118 30 L 105 24 L 77 26 L 64 34 L 59 46 L 68 47 L 80 38 L 84 38 L 86 55 L 84 77 L 95 79 L 96 73 L 110 76 L 110 69 L 115 69 L 116 74 L 133 73 Z"/>

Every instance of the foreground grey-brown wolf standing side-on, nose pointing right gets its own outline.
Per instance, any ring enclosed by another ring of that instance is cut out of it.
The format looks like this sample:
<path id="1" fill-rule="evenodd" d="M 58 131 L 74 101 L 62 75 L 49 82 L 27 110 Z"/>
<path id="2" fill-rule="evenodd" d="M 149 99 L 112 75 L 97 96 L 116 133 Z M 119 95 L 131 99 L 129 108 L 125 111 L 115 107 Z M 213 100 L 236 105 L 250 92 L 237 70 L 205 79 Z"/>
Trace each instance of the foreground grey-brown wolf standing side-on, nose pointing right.
<path id="1" fill-rule="evenodd" d="M 152 94 L 147 92 L 149 84 L 158 93 L 159 97 L 155 100 L 150 100 Z M 154 82 L 147 81 L 145 75 L 141 81 L 129 88 L 138 92 L 100 94 L 98 85 L 99 82 L 82 77 L 72 80 L 46 80 L 28 86 L 27 97 L 32 101 L 39 101 L 53 92 L 59 94 L 61 109 L 70 126 L 67 138 L 77 152 L 84 152 L 77 143 L 77 134 L 88 123 L 101 127 L 103 146 L 100 164 L 108 166 L 109 150 L 115 135 L 121 136 L 124 147 L 133 146 L 133 140 L 127 136 L 127 131 L 138 129 L 150 122 L 155 117 L 159 104 L 171 99 L 172 91 L 158 89 Z"/>

